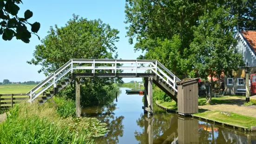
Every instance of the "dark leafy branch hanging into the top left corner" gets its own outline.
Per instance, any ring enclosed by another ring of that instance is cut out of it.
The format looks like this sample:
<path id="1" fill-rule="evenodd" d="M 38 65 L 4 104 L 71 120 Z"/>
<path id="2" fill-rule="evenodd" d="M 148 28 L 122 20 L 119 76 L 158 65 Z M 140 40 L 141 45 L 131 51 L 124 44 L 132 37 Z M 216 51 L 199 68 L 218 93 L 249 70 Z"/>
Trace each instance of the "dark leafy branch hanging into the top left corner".
<path id="1" fill-rule="evenodd" d="M 24 18 L 18 17 L 17 14 L 20 10 L 18 4 L 20 3 L 22 3 L 21 0 L 0 0 L 0 35 L 4 40 L 11 40 L 16 37 L 16 39 L 29 43 L 31 34 L 37 35 L 40 23 L 31 24 L 28 22 L 28 19 L 33 16 L 30 10 L 26 10 Z M 31 26 L 31 32 L 27 30 L 26 25 Z"/>

